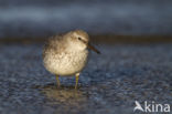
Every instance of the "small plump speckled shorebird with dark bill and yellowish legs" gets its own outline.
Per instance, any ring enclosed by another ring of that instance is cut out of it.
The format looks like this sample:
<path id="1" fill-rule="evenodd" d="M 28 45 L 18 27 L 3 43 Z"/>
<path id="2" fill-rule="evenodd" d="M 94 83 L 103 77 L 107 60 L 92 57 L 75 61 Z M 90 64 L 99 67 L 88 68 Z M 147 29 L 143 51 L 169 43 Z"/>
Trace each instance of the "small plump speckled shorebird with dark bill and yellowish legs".
<path id="1" fill-rule="evenodd" d="M 100 54 L 90 44 L 90 39 L 84 30 L 73 30 L 64 34 L 50 37 L 43 46 L 43 65 L 56 76 L 57 86 L 61 86 L 60 76 L 75 75 L 75 89 L 82 70 L 88 61 L 89 50 Z"/>

